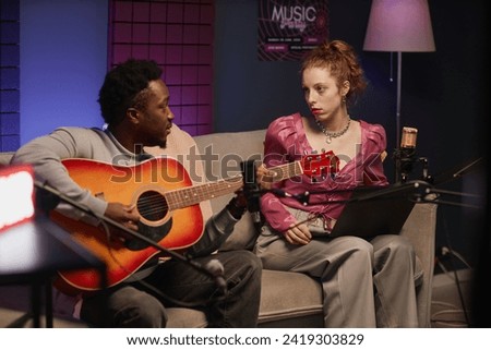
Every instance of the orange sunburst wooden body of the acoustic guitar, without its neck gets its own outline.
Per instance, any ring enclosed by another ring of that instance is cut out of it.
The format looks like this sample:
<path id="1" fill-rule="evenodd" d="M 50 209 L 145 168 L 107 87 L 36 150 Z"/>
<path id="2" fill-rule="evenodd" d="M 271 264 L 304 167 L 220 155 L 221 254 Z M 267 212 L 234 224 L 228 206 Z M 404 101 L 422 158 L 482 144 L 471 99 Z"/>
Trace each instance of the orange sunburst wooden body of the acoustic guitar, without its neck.
<path id="1" fill-rule="evenodd" d="M 203 234 L 203 216 L 199 202 L 172 209 L 172 190 L 192 188 L 185 169 L 171 158 L 153 158 L 134 167 L 118 167 L 87 159 L 63 160 L 70 177 L 106 202 L 135 204 L 141 215 L 139 232 L 169 250 L 183 250 Z M 127 243 L 111 240 L 103 226 L 92 226 L 53 212 L 51 218 L 82 245 L 106 263 L 107 285 L 129 277 L 160 252 L 139 240 Z M 95 269 L 59 271 L 62 280 L 75 290 L 100 288 Z M 57 282 L 60 286 L 60 281 Z M 69 290 L 72 288 L 68 288 Z M 60 289 L 63 289 L 61 287 Z M 67 289 L 65 289 L 67 290 Z"/>

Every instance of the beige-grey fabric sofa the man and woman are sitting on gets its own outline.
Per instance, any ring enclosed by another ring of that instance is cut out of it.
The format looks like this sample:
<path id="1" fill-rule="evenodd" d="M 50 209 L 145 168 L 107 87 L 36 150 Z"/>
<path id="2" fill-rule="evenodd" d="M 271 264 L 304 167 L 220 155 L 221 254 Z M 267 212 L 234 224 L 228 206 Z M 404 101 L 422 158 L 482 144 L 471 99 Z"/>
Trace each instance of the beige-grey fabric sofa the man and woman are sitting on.
<path id="1" fill-rule="evenodd" d="M 240 173 L 241 160 L 262 158 L 264 134 L 265 130 L 215 133 L 196 136 L 195 141 L 201 154 L 206 154 L 207 149 L 208 152 L 213 150 L 214 155 L 218 155 L 219 160 L 227 157 L 227 168 L 236 168 L 237 173 Z M 0 155 L 0 164 L 8 162 L 9 158 L 9 155 Z M 216 181 L 217 178 L 224 176 L 224 161 L 203 161 L 203 164 L 208 179 Z M 227 173 L 227 176 L 229 174 Z M 231 196 L 232 194 L 229 194 L 212 200 L 213 209 L 223 208 Z M 417 204 L 402 231 L 402 234 L 415 244 L 417 255 L 424 268 L 424 278 L 421 285 L 417 287 L 419 324 L 421 327 L 430 326 L 435 225 L 436 205 Z M 255 234 L 256 230 L 252 219 L 247 214 L 236 226 L 233 233 L 225 242 L 221 250 L 250 250 L 253 248 Z M 204 314 L 195 310 L 175 307 L 169 310 L 169 327 L 206 326 Z M 65 318 L 67 314 L 58 313 L 58 316 Z M 58 323 L 58 326 L 70 327 L 74 325 Z M 55 322 L 55 326 L 57 326 L 57 322 Z M 303 274 L 264 269 L 259 326 L 323 327 L 320 283 Z"/>

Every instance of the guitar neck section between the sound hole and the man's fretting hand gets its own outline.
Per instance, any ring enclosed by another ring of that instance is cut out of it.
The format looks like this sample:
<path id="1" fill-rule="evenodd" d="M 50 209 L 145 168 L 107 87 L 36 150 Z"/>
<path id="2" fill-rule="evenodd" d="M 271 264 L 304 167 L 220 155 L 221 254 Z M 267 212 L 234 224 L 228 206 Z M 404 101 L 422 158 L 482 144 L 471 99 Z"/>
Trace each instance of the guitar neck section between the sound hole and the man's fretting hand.
<path id="1" fill-rule="evenodd" d="M 208 182 L 166 192 L 166 200 L 169 209 L 180 209 L 199 204 L 203 201 L 213 200 L 236 192 L 242 188 L 242 177 L 223 179 L 216 182 Z"/>

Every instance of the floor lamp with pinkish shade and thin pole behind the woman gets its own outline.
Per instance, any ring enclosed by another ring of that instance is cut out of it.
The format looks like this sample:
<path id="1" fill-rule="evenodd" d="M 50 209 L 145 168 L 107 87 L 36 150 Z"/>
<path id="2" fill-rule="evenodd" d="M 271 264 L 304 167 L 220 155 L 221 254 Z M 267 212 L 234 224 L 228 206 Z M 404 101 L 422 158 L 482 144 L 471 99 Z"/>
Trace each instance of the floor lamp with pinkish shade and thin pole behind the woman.
<path id="1" fill-rule="evenodd" d="M 363 50 L 397 52 L 396 147 L 399 147 L 403 52 L 435 50 L 428 1 L 372 0 Z"/>

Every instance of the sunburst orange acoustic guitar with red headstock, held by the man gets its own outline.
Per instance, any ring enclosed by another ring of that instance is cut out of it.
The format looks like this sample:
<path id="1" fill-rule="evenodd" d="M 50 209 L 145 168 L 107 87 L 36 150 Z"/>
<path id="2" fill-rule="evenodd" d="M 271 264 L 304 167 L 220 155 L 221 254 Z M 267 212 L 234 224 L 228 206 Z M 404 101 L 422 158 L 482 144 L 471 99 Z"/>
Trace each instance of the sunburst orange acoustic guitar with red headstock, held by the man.
<path id="1" fill-rule="evenodd" d="M 301 160 L 271 168 L 273 181 L 300 174 L 318 176 L 331 171 L 332 152 L 304 156 Z M 184 167 L 173 158 L 151 158 L 125 167 L 91 159 L 62 160 L 70 177 L 81 188 L 106 202 L 134 204 L 141 220 L 140 234 L 167 250 L 183 251 L 200 240 L 204 220 L 200 203 L 236 192 L 243 186 L 241 176 L 216 182 L 193 184 Z M 106 286 L 111 287 L 131 276 L 160 251 L 137 239 L 111 240 L 103 226 L 92 226 L 59 212 L 51 219 L 64 228 L 80 244 L 106 263 Z M 65 293 L 100 289 L 96 269 L 59 271 L 55 285 Z"/>

